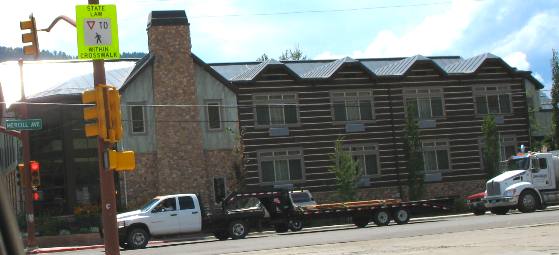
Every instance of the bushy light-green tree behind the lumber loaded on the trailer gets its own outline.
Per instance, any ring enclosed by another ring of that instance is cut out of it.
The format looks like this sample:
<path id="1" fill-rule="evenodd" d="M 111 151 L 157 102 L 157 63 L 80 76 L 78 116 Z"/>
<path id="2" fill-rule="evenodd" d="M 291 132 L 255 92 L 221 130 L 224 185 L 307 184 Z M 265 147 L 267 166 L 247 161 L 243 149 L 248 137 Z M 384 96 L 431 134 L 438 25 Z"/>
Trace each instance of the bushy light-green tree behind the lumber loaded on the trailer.
<path id="1" fill-rule="evenodd" d="M 330 172 L 336 175 L 336 188 L 342 201 L 354 201 L 357 196 L 357 182 L 361 178 L 359 163 L 353 160 L 351 153 L 343 148 L 343 137 L 336 140 L 334 154 L 330 155 L 334 163 Z"/>

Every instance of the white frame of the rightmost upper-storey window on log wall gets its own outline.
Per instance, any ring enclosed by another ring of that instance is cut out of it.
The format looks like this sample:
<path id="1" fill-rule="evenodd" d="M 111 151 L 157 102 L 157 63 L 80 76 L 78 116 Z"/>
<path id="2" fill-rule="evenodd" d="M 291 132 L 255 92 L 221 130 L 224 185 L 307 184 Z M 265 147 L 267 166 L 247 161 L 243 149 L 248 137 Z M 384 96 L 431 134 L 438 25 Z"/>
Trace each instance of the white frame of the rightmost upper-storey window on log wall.
<path id="1" fill-rule="evenodd" d="M 508 105 L 510 112 L 503 112 L 501 109 L 501 96 L 507 95 L 508 96 Z M 497 96 L 497 106 L 499 107 L 498 112 L 489 112 L 489 96 Z M 474 107 L 476 111 L 476 115 L 478 116 L 485 116 L 488 114 L 493 115 L 511 115 L 514 112 L 512 107 L 512 91 L 510 85 L 484 85 L 478 86 L 473 88 L 473 97 L 474 97 Z M 478 107 L 478 97 L 485 97 L 485 108 L 487 110 L 486 113 L 480 113 L 480 109 Z"/>

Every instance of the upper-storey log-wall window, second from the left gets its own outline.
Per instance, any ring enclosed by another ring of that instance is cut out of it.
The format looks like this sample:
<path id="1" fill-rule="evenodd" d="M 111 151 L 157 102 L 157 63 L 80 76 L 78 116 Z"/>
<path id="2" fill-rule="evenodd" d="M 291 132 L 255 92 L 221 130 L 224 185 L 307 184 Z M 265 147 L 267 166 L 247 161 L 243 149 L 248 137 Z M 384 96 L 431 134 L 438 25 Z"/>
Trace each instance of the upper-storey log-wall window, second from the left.
<path id="1" fill-rule="evenodd" d="M 373 120 L 372 91 L 332 92 L 331 98 L 334 121 Z"/>

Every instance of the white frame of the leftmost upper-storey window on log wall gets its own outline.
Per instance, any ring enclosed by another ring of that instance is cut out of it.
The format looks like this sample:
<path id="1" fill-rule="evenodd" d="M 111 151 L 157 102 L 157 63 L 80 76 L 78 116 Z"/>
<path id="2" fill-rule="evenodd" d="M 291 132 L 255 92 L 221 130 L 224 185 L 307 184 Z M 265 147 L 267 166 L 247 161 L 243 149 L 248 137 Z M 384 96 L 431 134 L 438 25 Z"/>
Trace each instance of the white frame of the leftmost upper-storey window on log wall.
<path id="1" fill-rule="evenodd" d="M 267 127 L 297 127 L 301 125 L 301 119 L 299 116 L 299 106 L 297 93 L 269 93 L 269 94 L 255 94 L 253 97 L 254 102 L 254 125 L 257 128 L 267 128 Z M 285 116 L 286 105 L 295 106 L 295 114 L 297 121 L 295 123 L 287 123 Z M 266 106 L 268 108 L 268 124 L 258 123 L 258 106 Z M 272 123 L 272 108 L 281 107 L 282 108 L 282 123 Z"/>

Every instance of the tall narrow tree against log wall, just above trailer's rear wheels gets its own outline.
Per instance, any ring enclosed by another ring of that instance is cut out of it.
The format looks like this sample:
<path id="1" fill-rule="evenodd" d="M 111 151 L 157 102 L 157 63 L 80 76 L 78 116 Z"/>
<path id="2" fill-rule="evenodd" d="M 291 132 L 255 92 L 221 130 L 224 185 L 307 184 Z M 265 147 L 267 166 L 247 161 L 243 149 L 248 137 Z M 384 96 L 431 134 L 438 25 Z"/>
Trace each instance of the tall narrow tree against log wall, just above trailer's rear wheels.
<path id="1" fill-rule="evenodd" d="M 424 193 L 423 156 L 421 154 L 421 140 L 419 126 L 416 119 L 416 107 L 408 104 L 406 109 L 406 126 L 404 127 L 404 159 L 408 172 L 408 197 L 410 200 L 421 199 Z"/>

